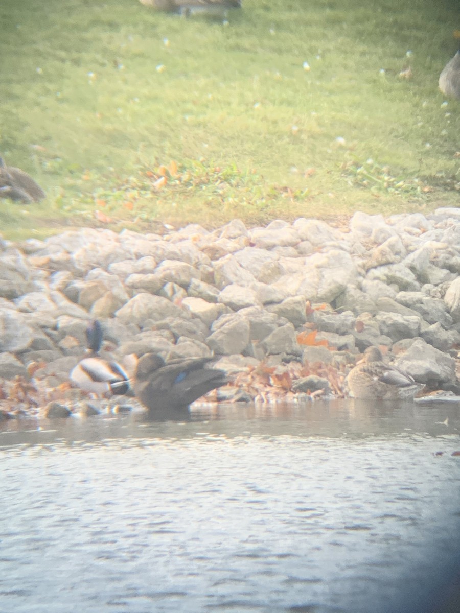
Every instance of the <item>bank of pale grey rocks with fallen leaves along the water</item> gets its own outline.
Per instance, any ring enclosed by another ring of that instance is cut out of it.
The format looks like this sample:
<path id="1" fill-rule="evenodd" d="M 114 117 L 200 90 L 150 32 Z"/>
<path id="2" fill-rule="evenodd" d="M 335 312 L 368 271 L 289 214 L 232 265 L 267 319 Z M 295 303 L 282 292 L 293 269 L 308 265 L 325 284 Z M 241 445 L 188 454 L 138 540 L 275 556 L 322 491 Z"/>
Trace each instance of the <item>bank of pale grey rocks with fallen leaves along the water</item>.
<path id="1" fill-rule="evenodd" d="M 345 376 L 370 345 L 428 390 L 458 395 L 459 273 L 458 208 L 358 212 L 341 227 L 234 220 L 2 240 L 0 411 L 87 406 L 68 375 L 91 318 L 104 327 L 102 356 L 121 363 L 148 351 L 214 355 L 232 378 L 214 400 L 346 396 Z"/>

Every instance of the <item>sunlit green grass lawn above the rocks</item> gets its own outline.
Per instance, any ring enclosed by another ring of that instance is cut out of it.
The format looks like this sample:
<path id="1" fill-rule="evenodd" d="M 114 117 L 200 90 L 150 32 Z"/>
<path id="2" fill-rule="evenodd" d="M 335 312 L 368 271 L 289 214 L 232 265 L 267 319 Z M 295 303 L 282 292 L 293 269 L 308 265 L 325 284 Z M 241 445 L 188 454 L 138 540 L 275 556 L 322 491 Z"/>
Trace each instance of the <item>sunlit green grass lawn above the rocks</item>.
<path id="1" fill-rule="evenodd" d="M 0 201 L 0 230 L 457 206 L 460 103 L 437 80 L 458 18 L 448 0 L 243 0 L 228 23 L 2 0 L 0 154 L 48 196 Z"/>

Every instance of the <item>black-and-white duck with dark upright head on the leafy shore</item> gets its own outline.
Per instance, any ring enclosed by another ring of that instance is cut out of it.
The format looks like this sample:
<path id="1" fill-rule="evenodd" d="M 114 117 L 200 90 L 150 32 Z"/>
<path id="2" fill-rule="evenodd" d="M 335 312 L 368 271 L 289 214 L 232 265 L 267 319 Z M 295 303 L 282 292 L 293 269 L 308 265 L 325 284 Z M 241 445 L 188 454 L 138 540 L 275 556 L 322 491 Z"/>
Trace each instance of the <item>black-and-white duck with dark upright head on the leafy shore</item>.
<path id="1" fill-rule="evenodd" d="M 90 322 L 86 329 L 88 357 L 83 358 L 71 371 L 70 379 L 75 385 L 94 394 L 123 395 L 131 387 L 129 377 L 117 362 L 108 362 L 99 357 L 102 345 L 102 327 L 97 319 Z"/>

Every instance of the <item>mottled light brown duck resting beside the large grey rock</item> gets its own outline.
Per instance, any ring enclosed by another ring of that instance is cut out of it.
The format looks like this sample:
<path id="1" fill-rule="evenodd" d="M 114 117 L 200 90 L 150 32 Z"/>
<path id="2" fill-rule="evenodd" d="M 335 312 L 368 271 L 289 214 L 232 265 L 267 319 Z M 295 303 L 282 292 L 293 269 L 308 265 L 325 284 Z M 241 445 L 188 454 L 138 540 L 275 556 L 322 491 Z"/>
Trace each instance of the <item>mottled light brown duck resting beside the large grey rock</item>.
<path id="1" fill-rule="evenodd" d="M 361 362 L 348 373 L 347 384 L 350 395 L 363 400 L 410 400 L 424 387 L 401 368 L 385 364 L 374 346 L 364 351 Z"/>

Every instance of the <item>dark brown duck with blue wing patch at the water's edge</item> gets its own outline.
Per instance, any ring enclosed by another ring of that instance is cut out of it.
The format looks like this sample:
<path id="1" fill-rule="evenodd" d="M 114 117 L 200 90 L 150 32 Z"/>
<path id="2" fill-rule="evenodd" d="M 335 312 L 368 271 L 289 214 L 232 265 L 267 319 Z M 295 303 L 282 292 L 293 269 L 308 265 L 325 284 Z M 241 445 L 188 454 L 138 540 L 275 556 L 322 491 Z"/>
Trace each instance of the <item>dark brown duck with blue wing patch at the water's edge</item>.
<path id="1" fill-rule="evenodd" d="M 197 357 L 165 362 L 147 353 L 137 363 L 134 395 L 148 409 L 150 419 L 185 417 L 188 406 L 210 390 L 227 382 L 217 368 L 205 368 L 212 358 Z"/>

